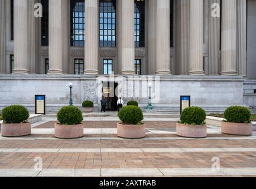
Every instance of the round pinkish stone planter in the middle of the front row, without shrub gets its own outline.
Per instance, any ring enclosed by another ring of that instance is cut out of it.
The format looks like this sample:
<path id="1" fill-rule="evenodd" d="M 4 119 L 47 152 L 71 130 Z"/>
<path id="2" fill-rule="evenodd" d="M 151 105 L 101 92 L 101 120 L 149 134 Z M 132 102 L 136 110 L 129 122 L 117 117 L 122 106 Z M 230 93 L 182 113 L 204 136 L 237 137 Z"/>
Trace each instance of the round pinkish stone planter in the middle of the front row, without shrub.
<path id="1" fill-rule="evenodd" d="M 139 139 L 146 136 L 145 124 L 142 125 L 124 125 L 117 123 L 117 135 L 121 138 Z"/>

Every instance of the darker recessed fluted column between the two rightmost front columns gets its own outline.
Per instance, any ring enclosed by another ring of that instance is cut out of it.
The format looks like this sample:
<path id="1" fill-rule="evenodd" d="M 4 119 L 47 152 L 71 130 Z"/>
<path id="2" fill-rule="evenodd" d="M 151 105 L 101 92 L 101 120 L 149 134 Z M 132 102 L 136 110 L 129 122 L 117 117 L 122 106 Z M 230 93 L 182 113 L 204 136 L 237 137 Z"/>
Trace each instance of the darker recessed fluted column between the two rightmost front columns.
<path id="1" fill-rule="evenodd" d="M 221 0 L 210 0 L 209 2 L 209 75 L 218 76 L 221 66 L 221 41 L 219 40 L 221 38 L 221 18 L 212 17 L 213 4 L 221 5 Z M 214 6 L 214 8 L 216 7 Z"/>

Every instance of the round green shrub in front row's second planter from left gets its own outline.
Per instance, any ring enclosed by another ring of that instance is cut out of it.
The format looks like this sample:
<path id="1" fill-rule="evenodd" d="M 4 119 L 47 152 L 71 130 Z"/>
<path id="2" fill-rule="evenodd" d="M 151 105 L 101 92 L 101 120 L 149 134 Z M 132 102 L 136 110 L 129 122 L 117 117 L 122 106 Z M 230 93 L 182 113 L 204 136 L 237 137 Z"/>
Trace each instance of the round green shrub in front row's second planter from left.
<path id="1" fill-rule="evenodd" d="M 83 114 L 78 107 L 64 106 L 57 113 L 61 125 L 76 125 L 82 123 Z"/>

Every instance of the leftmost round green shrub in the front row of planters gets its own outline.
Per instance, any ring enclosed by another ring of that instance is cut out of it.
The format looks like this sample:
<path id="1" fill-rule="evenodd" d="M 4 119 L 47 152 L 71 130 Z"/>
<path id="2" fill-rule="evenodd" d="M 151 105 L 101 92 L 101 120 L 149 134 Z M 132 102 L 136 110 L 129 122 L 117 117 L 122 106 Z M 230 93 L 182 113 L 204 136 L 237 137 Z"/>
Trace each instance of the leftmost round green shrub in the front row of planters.
<path id="1" fill-rule="evenodd" d="M 21 105 L 11 105 L 2 109 L 4 123 L 23 123 L 29 117 L 27 108 Z"/>

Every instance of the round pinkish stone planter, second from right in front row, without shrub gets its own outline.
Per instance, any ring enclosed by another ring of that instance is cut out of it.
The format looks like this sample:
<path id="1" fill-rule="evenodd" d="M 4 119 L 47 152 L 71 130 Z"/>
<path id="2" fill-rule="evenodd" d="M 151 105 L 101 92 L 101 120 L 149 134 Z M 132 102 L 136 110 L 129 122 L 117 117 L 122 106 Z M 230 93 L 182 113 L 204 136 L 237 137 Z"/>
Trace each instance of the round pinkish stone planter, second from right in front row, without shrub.
<path id="1" fill-rule="evenodd" d="M 181 123 L 177 123 L 176 132 L 178 136 L 182 136 L 186 138 L 206 138 L 207 126 L 206 125 L 184 125 Z"/>

